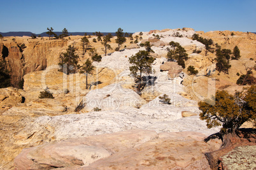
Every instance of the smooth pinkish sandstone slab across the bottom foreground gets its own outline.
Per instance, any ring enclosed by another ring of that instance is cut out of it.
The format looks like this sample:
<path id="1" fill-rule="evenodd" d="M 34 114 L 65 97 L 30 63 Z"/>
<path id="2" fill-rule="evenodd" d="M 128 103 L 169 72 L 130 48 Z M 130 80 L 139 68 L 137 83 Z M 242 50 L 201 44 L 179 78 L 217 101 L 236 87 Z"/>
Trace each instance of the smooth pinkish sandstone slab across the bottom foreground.
<path id="1" fill-rule="evenodd" d="M 167 169 L 205 168 L 203 153 L 219 141 L 204 143 L 196 132 L 131 130 L 69 139 L 27 148 L 15 158 L 17 169 Z M 131 157 L 132 155 L 132 157 Z"/>

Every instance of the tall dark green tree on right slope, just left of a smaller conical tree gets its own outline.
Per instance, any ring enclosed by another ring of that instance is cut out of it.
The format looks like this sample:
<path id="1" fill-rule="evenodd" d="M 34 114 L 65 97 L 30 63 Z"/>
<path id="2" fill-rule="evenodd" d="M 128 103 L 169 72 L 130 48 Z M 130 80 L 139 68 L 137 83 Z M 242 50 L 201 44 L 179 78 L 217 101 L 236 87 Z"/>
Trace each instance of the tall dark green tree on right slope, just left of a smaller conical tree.
<path id="1" fill-rule="evenodd" d="M 229 74 L 229 68 L 231 67 L 231 64 L 229 64 L 229 59 L 231 58 L 231 50 L 229 49 L 220 49 L 218 48 L 216 51 L 217 55 L 217 64 L 216 69 L 220 73 L 223 71 L 224 73 Z"/>

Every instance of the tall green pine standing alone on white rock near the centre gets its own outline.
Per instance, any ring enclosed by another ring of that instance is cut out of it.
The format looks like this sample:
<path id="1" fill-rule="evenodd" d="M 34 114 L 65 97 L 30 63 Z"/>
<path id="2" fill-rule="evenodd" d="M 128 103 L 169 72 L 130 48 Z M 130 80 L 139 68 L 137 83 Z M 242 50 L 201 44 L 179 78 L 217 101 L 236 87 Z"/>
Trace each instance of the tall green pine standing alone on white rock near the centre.
<path id="1" fill-rule="evenodd" d="M 133 65 L 130 67 L 131 76 L 133 76 L 135 81 L 138 82 L 137 92 L 141 91 L 142 73 L 152 73 L 152 63 L 154 60 L 155 59 L 153 57 L 149 56 L 147 51 L 141 50 L 129 58 L 130 64 Z"/>

